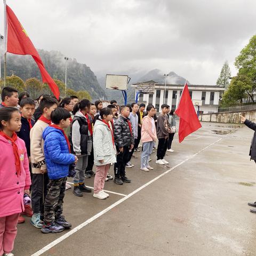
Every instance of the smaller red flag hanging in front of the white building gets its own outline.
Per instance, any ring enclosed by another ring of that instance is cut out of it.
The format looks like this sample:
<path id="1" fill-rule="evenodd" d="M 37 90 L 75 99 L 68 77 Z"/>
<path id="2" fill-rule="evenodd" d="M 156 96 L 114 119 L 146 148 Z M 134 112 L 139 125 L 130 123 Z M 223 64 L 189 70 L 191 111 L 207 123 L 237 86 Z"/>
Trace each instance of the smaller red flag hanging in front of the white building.
<path id="1" fill-rule="evenodd" d="M 202 125 L 198 120 L 195 108 L 191 101 L 188 84 L 186 83 L 181 94 L 181 99 L 175 114 L 180 117 L 179 124 L 179 142 L 181 143 L 187 135 L 201 128 Z"/>

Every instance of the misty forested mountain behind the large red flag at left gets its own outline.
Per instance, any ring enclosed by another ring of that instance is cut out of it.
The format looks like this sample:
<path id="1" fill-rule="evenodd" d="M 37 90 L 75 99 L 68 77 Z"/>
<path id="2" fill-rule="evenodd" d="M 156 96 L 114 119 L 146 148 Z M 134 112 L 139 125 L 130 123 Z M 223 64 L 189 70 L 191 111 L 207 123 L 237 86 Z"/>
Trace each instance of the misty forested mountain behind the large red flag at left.
<path id="1" fill-rule="evenodd" d="M 58 51 L 38 50 L 45 68 L 52 78 L 65 82 L 65 59 Z M 2 77 L 4 73 L 3 58 L 1 59 Z M 12 74 L 21 77 L 24 81 L 30 77 L 41 78 L 39 69 L 30 55 L 21 56 L 7 53 L 7 76 Z M 90 67 L 78 63 L 76 59 L 67 61 L 67 88 L 75 91 L 86 90 L 93 99 L 106 98 L 105 90 L 100 86 L 97 77 Z"/>

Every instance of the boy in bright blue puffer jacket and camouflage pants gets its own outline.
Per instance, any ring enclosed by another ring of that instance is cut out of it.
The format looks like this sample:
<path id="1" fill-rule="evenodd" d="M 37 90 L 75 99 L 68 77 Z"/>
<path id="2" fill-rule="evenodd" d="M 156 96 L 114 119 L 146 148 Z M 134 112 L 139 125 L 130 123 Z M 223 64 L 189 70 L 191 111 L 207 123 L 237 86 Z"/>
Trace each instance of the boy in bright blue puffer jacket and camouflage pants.
<path id="1" fill-rule="evenodd" d="M 67 109 L 57 108 L 51 113 L 53 124 L 43 131 L 44 154 L 49 176 L 47 194 L 44 203 L 44 225 L 42 233 L 59 233 L 71 224 L 63 215 L 63 198 L 65 196 L 66 181 L 69 164 L 77 161 L 77 157 L 70 154 L 69 140 L 64 128 L 70 125 L 70 113 Z M 53 214 L 54 217 L 53 218 Z"/>

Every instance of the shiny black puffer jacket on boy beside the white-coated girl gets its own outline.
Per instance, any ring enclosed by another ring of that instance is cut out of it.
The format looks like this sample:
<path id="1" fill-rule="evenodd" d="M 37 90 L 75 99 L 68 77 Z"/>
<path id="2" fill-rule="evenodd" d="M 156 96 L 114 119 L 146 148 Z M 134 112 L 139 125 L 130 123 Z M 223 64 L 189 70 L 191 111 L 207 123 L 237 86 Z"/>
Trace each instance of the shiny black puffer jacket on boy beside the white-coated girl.
<path id="1" fill-rule="evenodd" d="M 133 130 L 131 134 L 128 122 L 130 122 L 129 118 L 120 116 L 117 119 L 117 121 L 114 123 L 115 144 L 117 148 L 131 146 L 132 144 L 134 145 Z M 132 124 L 131 124 L 131 129 L 132 129 Z"/>

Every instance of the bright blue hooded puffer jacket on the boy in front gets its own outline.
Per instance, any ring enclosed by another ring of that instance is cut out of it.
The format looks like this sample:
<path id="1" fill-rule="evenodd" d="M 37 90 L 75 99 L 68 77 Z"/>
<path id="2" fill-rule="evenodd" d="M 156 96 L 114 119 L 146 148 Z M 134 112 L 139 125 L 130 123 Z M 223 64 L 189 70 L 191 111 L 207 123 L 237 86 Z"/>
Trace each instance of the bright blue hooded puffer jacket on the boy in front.
<path id="1" fill-rule="evenodd" d="M 75 162 L 75 156 L 69 153 L 65 136 L 61 130 L 48 126 L 43 131 L 44 155 L 47 173 L 51 180 L 68 176 L 69 164 Z"/>

